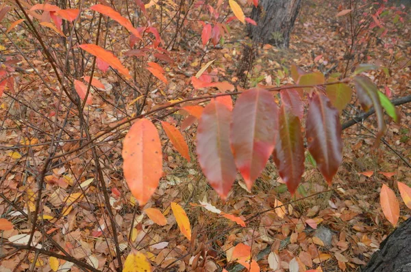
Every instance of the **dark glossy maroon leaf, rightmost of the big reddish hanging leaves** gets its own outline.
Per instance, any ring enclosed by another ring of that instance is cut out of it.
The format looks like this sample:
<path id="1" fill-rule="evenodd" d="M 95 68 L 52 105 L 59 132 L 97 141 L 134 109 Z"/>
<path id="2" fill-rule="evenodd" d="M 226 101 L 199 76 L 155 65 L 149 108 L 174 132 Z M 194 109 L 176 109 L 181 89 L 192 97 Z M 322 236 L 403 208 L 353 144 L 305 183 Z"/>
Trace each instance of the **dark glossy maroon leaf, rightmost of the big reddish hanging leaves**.
<path id="1" fill-rule="evenodd" d="M 343 161 L 343 142 L 338 110 L 323 94 L 314 94 L 307 113 L 306 137 L 308 150 L 321 174 L 331 185 L 332 178 Z"/>

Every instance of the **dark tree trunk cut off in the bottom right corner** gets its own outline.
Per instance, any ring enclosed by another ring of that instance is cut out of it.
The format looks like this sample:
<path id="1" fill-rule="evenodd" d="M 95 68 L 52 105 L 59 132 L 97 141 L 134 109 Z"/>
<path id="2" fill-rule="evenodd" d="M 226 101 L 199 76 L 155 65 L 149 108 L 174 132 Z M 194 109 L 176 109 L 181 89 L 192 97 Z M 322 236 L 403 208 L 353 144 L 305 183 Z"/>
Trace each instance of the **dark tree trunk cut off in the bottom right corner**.
<path id="1" fill-rule="evenodd" d="M 411 218 L 379 246 L 362 272 L 411 272 Z"/>

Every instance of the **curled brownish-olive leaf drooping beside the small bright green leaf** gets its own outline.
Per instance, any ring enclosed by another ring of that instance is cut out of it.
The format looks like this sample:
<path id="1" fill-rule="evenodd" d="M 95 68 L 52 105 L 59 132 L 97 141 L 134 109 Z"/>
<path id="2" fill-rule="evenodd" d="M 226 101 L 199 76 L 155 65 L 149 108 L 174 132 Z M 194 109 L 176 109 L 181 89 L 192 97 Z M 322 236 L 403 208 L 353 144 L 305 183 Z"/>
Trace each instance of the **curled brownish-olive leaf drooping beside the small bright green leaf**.
<path id="1" fill-rule="evenodd" d="M 386 123 L 384 121 L 384 112 L 382 111 L 381 101 L 379 100 L 377 86 L 375 86 L 373 81 L 368 77 L 357 76 L 354 77 L 353 80 L 356 84 L 358 100 L 360 100 L 360 104 L 364 111 L 368 111 L 371 106 L 375 109 L 378 122 L 378 133 L 375 142 L 378 143 L 379 138 L 386 131 Z"/>

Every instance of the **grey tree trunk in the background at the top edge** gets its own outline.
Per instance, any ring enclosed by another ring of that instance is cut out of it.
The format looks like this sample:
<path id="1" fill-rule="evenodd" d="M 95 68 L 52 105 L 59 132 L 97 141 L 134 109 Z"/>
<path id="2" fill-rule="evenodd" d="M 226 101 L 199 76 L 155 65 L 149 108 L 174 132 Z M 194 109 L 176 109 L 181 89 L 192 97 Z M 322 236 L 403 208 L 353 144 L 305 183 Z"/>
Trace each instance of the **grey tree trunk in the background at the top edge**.
<path id="1" fill-rule="evenodd" d="M 258 25 L 249 25 L 249 37 L 254 42 L 288 47 L 300 6 L 301 0 L 260 0 L 251 12 Z"/>

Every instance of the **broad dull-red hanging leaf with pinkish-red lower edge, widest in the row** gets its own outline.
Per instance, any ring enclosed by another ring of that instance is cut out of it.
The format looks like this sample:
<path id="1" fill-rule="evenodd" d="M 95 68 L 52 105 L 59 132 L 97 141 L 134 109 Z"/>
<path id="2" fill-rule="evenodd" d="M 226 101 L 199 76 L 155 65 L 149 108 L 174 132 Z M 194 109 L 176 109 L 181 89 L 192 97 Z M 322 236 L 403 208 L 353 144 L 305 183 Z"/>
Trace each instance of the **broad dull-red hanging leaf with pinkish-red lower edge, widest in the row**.
<path id="1" fill-rule="evenodd" d="M 233 109 L 230 141 L 237 169 L 248 189 L 260 176 L 274 150 L 277 115 L 273 95 L 259 88 L 243 92 Z"/>

